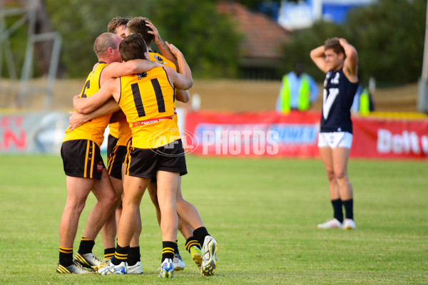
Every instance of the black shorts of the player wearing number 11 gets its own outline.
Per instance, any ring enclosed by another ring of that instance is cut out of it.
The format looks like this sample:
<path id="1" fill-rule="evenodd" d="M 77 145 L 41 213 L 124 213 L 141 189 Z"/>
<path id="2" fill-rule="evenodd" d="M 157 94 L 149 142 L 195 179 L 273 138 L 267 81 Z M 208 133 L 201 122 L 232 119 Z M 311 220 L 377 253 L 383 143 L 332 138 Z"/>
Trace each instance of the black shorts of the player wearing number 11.
<path id="1" fill-rule="evenodd" d="M 187 174 L 181 140 L 154 149 L 130 147 L 125 164 L 126 175 L 142 178 L 156 178 L 158 170 Z"/>

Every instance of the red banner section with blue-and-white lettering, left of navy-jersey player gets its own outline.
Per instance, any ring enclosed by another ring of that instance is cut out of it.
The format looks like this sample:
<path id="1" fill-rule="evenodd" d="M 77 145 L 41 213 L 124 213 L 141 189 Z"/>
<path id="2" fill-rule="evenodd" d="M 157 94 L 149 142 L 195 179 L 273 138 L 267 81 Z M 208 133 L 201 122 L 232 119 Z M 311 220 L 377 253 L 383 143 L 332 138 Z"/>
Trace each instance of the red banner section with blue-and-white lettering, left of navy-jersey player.
<path id="1" fill-rule="evenodd" d="M 319 120 L 310 112 L 193 112 L 186 115 L 183 142 L 199 155 L 314 157 Z"/>

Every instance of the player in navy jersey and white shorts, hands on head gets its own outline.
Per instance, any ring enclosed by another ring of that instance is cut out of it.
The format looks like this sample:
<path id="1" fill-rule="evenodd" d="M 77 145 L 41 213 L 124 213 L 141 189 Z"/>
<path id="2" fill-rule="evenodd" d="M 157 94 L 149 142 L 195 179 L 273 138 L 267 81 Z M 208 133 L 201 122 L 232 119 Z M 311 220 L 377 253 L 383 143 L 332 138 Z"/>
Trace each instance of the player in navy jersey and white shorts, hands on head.
<path id="1" fill-rule="evenodd" d="M 345 38 L 330 38 L 310 52 L 326 73 L 318 147 L 330 185 L 333 218 L 319 229 L 355 229 L 352 185 L 347 162 L 352 145 L 350 108 L 358 87 L 357 50 Z M 345 207 L 345 219 L 342 207 Z"/>

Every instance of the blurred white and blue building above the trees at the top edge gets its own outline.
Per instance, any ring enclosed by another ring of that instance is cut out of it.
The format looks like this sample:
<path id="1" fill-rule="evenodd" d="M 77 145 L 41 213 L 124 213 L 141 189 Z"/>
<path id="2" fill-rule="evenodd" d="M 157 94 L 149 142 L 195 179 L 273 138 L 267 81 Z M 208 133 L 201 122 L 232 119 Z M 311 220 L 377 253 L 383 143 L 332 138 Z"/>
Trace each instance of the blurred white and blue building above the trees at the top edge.
<path id="1" fill-rule="evenodd" d="M 347 12 L 356 6 L 372 4 L 375 0 L 282 0 L 277 18 L 278 24 L 287 30 L 309 28 L 321 19 L 342 23 Z"/>

